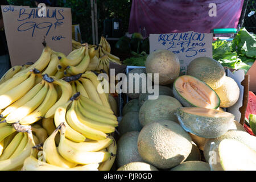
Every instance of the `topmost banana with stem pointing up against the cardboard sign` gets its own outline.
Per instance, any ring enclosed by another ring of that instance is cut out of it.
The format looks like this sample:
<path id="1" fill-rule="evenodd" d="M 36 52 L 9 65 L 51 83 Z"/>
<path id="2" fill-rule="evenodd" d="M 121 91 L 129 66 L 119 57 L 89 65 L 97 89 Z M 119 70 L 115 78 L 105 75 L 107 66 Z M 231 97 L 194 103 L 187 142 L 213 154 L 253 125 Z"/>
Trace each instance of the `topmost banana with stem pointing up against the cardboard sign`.
<path id="1" fill-rule="evenodd" d="M 34 68 L 42 72 L 47 67 L 47 65 L 49 64 L 49 61 L 51 60 L 52 49 L 46 45 L 46 42 L 43 42 L 43 46 L 44 46 L 44 49 L 39 59 L 27 69 L 24 69 L 23 71 L 16 73 L 14 77 L 19 77 L 22 73 L 30 71 L 31 69 L 34 69 Z"/>

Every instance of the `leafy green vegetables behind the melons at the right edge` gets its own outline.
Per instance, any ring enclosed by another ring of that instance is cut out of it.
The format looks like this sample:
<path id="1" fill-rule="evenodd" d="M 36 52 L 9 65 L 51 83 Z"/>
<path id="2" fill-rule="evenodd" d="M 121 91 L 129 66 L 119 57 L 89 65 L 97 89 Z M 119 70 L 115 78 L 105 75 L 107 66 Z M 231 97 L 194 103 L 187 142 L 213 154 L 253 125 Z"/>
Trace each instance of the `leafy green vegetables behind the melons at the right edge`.
<path id="1" fill-rule="evenodd" d="M 242 28 L 232 42 L 217 39 L 212 43 L 213 59 L 224 67 L 243 69 L 245 73 L 256 59 L 256 35 Z"/>

